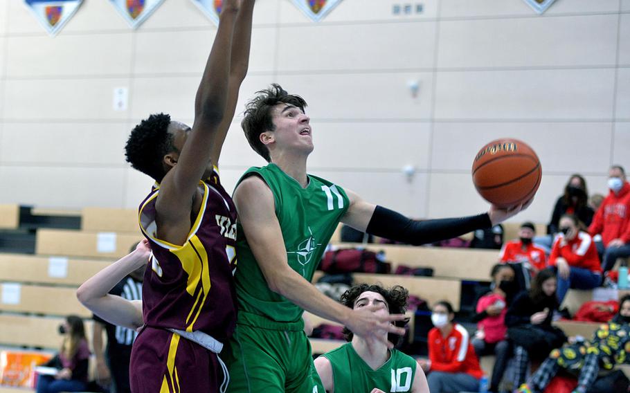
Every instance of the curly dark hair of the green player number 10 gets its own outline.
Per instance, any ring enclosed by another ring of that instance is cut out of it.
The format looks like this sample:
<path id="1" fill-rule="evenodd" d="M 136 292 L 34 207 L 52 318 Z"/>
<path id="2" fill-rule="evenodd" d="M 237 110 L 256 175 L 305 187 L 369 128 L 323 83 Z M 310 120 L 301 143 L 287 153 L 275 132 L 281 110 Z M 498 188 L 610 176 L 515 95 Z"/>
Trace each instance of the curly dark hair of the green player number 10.
<path id="1" fill-rule="evenodd" d="M 387 302 L 387 306 L 390 314 L 403 314 L 407 310 L 407 300 L 409 298 L 409 291 L 404 289 L 402 286 L 395 285 L 389 289 L 385 289 L 381 285 L 377 284 L 359 284 L 352 286 L 352 288 L 345 291 L 343 295 L 341 295 L 341 304 L 345 307 L 350 307 L 350 309 L 354 308 L 354 302 L 357 301 L 361 293 L 363 292 L 375 292 L 379 293 L 385 301 Z M 405 327 L 409 322 L 408 318 L 401 321 L 396 321 L 394 324 L 397 327 Z M 352 331 L 350 331 L 347 327 L 343 327 L 343 336 L 345 340 L 351 341 L 354 335 Z M 398 345 L 402 340 L 402 336 L 399 336 L 395 333 L 388 333 L 387 339 L 392 342 L 394 345 Z"/>

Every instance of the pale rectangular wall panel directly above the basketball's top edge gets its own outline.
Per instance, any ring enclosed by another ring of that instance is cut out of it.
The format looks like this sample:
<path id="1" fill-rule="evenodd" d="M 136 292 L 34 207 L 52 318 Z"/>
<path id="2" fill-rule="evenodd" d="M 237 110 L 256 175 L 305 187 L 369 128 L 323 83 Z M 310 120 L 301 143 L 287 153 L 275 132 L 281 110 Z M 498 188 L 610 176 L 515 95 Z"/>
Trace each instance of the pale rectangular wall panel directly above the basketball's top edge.
<path id="1" fill-rule="evenodd" d="M 439 72 L 435 117 L 611 118 L 613 69 Z"/>

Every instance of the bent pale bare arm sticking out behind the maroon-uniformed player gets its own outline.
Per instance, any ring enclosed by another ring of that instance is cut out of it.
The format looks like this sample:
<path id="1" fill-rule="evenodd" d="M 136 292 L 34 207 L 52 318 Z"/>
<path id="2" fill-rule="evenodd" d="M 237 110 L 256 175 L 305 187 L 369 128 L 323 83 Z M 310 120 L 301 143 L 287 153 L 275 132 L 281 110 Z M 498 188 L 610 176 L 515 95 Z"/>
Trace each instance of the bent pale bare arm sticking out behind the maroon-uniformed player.
<path id="1" fill-rule="evenodd" d="M 129 273 L 147 264 L 150 255 L 148 241 L 144 239 L 132 253 L 118 259 L 84 282 L 77 290 L 77 298 L 90 311 L 112 325 L 129 329 L 141 327 L 144 323 L 142 301 L 123 299 L 110 295 L 109 291 Z"/>

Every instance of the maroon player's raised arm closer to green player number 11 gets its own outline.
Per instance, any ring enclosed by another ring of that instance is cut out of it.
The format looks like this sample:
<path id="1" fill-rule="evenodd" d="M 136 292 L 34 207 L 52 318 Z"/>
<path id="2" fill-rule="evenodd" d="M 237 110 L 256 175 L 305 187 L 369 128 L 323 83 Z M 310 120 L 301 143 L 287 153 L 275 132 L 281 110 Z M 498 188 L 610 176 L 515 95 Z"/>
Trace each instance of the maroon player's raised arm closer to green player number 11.
<path id="1" fill-rule="evenodd" d="M 228 86 L 228 101 L 225 110 L 225 116 L 219 131 L 215 136 L 212 147 L 211 160 L 215 165 L 219 165 L 219 156 L 223 143 L 232 124 L 234 112 L 236 111 L 236 103 L 238 101 L 238 92 L 241 84 L 247 75 L 249 68 L 249 48 L 251 46 L 251 21 L 253 18 L 255 0 L 242 0 L 236 24 L 234 28 L 234 37 L 232 39 L 232 59 L 230 64 L 230 80 Z M 199 95 L 199 93 L 197 93 Z M 195 102 L 197 105 L 197 100 Z"/>

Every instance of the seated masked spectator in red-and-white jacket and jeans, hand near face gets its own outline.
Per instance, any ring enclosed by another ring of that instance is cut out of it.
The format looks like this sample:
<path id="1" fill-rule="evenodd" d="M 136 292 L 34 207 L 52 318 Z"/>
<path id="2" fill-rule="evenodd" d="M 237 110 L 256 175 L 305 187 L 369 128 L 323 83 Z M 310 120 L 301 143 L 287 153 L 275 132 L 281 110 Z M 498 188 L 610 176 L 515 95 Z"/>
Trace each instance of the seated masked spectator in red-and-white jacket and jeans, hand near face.
<path id="1" fill-rule="evenodd" d="M 564 214 L 560 234 L 553 244 L 549 265 L 557 271 L 558 303 L 569 288 L 593 289 L 602 284 L 602 266 L 591 235 L 579 230 L 577 217 Z"/>

